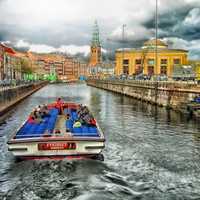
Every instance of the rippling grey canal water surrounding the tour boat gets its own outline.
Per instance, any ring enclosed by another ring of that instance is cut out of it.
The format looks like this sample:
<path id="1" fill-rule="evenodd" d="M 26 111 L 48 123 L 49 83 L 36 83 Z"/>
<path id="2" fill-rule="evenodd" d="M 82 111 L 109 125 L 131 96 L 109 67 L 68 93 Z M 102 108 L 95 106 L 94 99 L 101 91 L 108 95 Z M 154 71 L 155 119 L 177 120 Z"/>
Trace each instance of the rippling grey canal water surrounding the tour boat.
<path id="1" fill-rule="evenodd" d="M 87 104 L 106 137 L 105 161 L 15 162 L 6 142 L 38 104 Z M 200 199 L 200 124 L 129 97 L 79 85 L 48 85 L 0 125 L 0 199 Z"/>

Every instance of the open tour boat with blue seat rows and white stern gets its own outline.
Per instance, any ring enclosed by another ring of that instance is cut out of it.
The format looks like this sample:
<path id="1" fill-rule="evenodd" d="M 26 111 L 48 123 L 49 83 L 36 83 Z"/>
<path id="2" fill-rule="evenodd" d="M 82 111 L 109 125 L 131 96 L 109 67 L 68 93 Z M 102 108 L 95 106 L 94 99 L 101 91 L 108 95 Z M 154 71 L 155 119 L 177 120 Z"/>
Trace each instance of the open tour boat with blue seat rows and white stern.
<path id="1" fill-rule="evenodd" d="M 81 126 L 74 127 L 74 123 L 80 118 L 78 111 L 81 106 L 65 102 L 60 109 L 55 104 L 48 104 L 49 115 L 40 123 L 26 120 L 7 142 L 8 150 L 19 159 L 103 160 L 101 152 L 105 138 L 98 123 L 92 126 L 82 123 Z"/>

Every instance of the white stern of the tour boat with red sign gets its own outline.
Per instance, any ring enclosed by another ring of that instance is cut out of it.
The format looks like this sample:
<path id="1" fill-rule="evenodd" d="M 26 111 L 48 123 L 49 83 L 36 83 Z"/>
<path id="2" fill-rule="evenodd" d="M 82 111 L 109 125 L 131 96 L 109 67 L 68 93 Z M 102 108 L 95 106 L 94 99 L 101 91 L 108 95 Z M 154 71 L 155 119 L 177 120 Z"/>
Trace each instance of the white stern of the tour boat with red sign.
<path id="1" fill-rule="evenodd" d="M 51 149 L 41 149 L 42 144 L 50 145 Z M 63 149 L 64 145 L 75 144 L 76 148 Z M 48 140 L 48 141 L 17 141 L 8 144 L 8 150 L 16 157 L 49 157 L 49 156 L 81 156 L 81 155 L 97 155 L 104 148 L 102 140 Z"/>

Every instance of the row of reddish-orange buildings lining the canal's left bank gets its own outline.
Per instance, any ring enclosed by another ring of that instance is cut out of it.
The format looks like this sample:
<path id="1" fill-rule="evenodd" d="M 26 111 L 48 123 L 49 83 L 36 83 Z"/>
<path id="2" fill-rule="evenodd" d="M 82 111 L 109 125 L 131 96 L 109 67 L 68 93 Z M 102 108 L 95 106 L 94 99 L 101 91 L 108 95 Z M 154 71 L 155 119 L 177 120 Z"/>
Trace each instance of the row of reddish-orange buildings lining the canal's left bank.
<path id="1" fill-rule="evenodd" d="M 0 43 L 0 80 L 40 79 L 62 81 L 88 76 L 88 64 L 59 53 L 18 52 Z"/>

